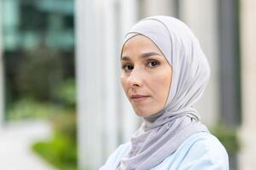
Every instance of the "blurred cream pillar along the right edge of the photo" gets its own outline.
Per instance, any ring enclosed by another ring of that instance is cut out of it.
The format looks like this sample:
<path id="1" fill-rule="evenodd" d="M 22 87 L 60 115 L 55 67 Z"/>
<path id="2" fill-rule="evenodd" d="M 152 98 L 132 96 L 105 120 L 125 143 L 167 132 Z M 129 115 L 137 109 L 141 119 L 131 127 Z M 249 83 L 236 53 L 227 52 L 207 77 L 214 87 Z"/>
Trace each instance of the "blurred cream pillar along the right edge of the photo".
<path id="1" fill-rule="evenodd" d="M 241 6 L 241 98 L 242 125 L 240 132 L 240 169 L 256 167 L 256 1 L 240 1 Z"/>

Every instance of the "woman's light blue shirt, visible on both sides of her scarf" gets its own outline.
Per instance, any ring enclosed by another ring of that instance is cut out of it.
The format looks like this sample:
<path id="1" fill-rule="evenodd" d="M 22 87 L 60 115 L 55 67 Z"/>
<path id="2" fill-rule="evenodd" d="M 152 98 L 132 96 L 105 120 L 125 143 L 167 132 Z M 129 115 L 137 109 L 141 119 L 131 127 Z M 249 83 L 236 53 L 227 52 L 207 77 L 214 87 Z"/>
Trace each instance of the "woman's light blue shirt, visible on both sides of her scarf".
<path id="1" fill-rule="evenodd" d="M 115 170 L 119 160 L 131 150 L 131 143 L 121 144 L 100 170 Z M 177 150 L 151 170 L 227 170 L 229 157 L 224 146 L 211 133 L 195 133 Z"/>

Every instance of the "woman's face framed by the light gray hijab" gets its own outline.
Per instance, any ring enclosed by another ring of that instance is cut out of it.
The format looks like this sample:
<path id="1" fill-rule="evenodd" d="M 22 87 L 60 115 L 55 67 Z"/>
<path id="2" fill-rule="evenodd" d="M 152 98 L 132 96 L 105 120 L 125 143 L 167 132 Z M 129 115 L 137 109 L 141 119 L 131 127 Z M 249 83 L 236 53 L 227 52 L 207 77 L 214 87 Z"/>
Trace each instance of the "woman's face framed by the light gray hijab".
<path id="1" fill-rule="evenodd" d="M 151 116 L 166 105 L 172 68 L 148 37 L 137 35 L 125 42 L 120 80 L 137 116 Z"/>

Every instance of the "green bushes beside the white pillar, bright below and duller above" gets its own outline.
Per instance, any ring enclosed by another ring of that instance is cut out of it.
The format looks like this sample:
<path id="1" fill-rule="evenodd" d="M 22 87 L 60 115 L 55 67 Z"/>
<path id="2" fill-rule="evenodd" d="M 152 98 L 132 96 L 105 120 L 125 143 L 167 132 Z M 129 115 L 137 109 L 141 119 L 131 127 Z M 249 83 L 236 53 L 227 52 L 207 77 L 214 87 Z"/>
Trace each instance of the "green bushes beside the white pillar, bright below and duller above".
<path id="1" fill-rule="evenodd" d="M 55 136 L 49 141 L 39 141 L 32 149 L 61 170 L 77 169 L 76 114 L 66 111 L 52 117 Z"/>

